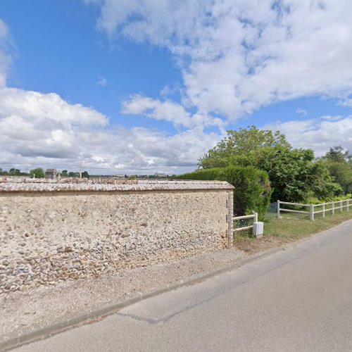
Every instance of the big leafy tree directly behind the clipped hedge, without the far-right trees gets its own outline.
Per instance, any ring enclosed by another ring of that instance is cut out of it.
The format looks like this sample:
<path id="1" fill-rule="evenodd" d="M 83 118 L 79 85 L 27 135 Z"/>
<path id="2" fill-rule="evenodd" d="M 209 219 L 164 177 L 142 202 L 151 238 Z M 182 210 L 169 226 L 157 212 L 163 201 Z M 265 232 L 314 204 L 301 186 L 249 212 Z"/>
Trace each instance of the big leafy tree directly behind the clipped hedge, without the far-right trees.
<path id="1" fill-rule="evenodd" d="M 315 189 L 314 182 L 332 182 L 329 175 L 314 166 L 311 149 L 294 149 L 279 131 L 259 130 L 256 126 L 227 131 L 213 149 L 199 160 L 199 168 L 224 168 L 227 165 L 253 166 L 268 172 L 272 201 L 305 201 Z M 331 185 L 330 185 L 331 186 Z M 320 194 L 331 194 L 331 187 Z"/>

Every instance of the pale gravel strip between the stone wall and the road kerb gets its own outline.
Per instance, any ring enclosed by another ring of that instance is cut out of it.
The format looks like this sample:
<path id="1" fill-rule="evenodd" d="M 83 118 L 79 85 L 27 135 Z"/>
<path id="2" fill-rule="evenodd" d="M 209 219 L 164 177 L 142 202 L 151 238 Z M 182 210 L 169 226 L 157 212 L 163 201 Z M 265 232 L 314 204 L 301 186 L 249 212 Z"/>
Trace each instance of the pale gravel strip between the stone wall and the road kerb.
<path id="1" fill-rule="evenodd" d="M 248 256 L 225 249 L 152 267 L 111 272 L 0 295 L 0 344 L 23 334 L 226 268 Z"/>

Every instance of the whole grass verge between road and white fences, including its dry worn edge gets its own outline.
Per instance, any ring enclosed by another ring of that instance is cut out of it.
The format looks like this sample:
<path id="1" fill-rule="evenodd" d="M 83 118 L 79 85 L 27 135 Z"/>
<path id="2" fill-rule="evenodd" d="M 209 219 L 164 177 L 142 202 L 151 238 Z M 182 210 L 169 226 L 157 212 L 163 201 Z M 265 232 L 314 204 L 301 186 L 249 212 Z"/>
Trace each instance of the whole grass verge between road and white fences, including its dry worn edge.
<path id="1" fill-rule="evenodd" d="M 352 210 L 335 215 L 327 214 L 325 218 L 315 215 L 315 221 L 310 221 L 301 214 L 284 214 L 281 219 L 265 220 L 264 236 L 261 239 L 251 237 L 251 230 L 236 232 L 234 246 L 249 254 L 258 253 L 328 230 L 349 219 L 352 219 Z"/>

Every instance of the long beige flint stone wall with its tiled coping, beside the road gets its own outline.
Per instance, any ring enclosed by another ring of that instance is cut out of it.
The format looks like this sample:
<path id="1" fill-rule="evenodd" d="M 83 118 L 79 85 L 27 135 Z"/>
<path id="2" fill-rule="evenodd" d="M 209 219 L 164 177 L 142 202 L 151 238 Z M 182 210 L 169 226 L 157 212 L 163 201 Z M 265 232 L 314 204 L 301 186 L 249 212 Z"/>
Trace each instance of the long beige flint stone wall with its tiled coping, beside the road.
<path id="1" fill-rule="evenodd" d="M 226 182 L 3 180 L 0 293 L 224 248 L 231 197 Z"/>

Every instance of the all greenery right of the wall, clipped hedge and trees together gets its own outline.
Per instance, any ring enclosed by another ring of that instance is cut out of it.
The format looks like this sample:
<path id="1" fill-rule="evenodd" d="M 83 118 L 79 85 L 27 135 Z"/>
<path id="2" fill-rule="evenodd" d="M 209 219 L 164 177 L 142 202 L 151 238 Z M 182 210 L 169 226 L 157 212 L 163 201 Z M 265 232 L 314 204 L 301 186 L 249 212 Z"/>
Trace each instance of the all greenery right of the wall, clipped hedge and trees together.
<path id="1" fill-rule="evenodd" d="M 281 132 L 254 125 L 228 130 L 198 166 L 177 178 L 227 180 L 235 187 L 237 215 L 251 210 L 264 214 L 277 199 L 329 201 L 352 193 L 352 156 L 342 146 L 332 146 L 325 156 L 315 158 L 312 149 L 294 148 Z"/>

